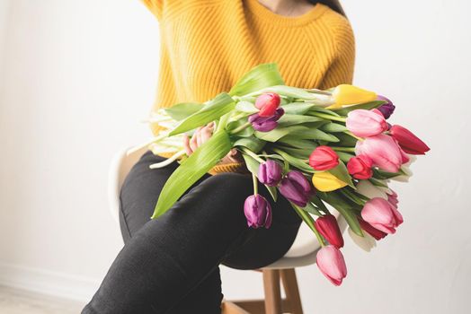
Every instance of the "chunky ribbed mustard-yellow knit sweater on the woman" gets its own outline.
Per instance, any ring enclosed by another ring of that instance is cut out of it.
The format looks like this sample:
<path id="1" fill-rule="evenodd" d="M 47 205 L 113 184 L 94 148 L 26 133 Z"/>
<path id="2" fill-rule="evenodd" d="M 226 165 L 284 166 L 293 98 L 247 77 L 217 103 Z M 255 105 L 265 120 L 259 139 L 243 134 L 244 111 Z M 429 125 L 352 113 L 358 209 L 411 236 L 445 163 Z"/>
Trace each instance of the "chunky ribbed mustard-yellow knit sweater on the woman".
<path id="1" fill-rule="evenodd" d="M 255 65 L 276 62 L 287 85 L 327 89 L 351 83 L 350 22 L 324 4 L 286 17 L 258 0 L 141 0 L 160 29 L 160 73 L 153 110 L 204 102 L 228 92 Z M 151 126 L 154 134 L 162 126 Z M 161 154 L 169 157 L 168 153 Z M 244 172 L 244 162 L 209 171 Z"/>

